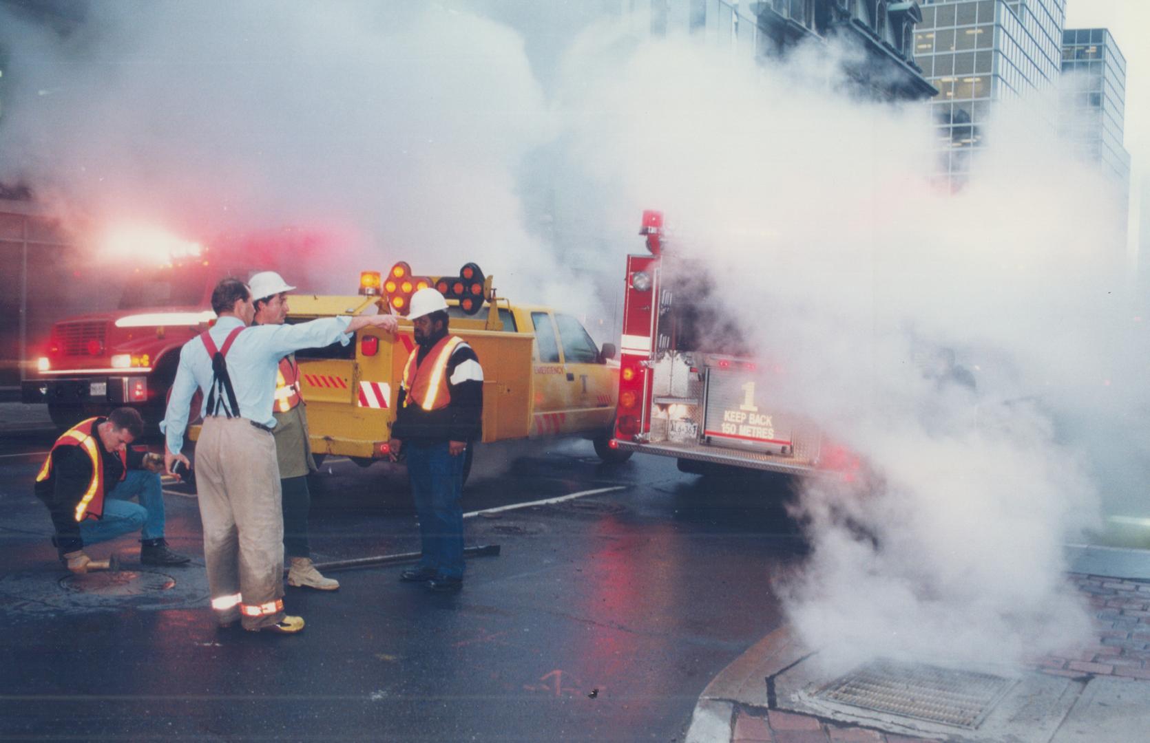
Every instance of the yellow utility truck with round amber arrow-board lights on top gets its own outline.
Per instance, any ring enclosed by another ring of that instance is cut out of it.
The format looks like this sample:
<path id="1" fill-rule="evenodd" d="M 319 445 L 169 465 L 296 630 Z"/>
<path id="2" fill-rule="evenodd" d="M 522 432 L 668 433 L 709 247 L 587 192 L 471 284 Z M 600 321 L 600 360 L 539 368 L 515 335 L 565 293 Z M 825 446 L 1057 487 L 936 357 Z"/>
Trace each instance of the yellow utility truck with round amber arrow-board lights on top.
<path id="1" fill-rule="evenodd" d="M 596 346 L 573 315 L 497 296 L 492 277 L 475 263 L 437 277 L 415 276 L 398 262 L 386 274 L 362 272 L 359 294 L 289 296 L 289 323 L 365 312 L 399 319 L 394 334 L 368 327 L 354 342 L 296 354 L 317 458 L 346 456 L 361 466 L 390 458 L 399 381 L 415 348 L 407 305 L 428 286 L 447 299 L 451 333 L 475 349 L 483 366 L 483 442 L 578 436 L 606 462 L 630 456 L 610 446 L 619 389 L 612 343 Z M 190 438 L 198 435 L 192 426 Z"/>

